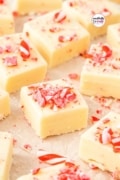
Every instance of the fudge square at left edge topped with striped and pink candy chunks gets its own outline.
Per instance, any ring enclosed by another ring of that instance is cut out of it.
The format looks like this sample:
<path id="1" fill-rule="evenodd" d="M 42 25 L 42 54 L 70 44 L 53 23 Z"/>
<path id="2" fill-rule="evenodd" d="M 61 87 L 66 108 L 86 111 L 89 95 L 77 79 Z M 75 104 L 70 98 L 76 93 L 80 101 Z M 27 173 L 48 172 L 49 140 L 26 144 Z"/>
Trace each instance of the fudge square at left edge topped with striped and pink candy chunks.
<path id="1" fill-rule="evenodd" d="M 42 81 L 47 64 L 22 33 L 0 38 L 0 86 L 9 93 Z"/>

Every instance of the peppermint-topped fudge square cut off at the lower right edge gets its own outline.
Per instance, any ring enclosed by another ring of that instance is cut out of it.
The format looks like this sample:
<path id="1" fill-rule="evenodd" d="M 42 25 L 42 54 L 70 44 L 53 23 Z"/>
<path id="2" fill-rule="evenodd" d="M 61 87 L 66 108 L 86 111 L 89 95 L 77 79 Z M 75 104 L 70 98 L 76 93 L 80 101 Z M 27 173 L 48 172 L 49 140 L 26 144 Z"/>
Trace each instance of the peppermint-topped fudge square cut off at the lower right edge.
<path id="1" fill-rule="evenodd" d="M 100 169 L 120 171 L 120 114 L 109 112 L 81 135 L 79 156 Z"/>

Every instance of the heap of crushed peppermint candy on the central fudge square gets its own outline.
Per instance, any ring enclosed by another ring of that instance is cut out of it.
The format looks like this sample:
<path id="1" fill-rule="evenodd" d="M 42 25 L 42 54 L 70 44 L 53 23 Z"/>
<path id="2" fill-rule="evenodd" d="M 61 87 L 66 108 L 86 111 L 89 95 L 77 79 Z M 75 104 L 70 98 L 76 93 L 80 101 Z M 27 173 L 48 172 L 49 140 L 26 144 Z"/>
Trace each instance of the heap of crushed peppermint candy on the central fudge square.
<path id="1" fill-rule="evenodd" d="M 76 94 L 72 87 L 43 84 L 40 86 L 29 86 L 29 91 L 29 95 L 41 107 L 48 106 L 53 110 L 65 108 L 70 102 L 76 102 Z"/>

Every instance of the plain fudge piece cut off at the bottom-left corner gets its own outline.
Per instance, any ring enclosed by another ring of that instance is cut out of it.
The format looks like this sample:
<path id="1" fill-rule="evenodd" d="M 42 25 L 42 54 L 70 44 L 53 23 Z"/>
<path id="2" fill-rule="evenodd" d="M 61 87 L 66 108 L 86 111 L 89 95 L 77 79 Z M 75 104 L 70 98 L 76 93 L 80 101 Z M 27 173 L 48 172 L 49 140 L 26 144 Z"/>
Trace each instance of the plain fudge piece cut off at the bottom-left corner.
<path id="1" fill-rule="evenodd" d="M 12 164 L 13 138 L 8 132 L 0 132 L 0 179 L 8 180 Z"/>

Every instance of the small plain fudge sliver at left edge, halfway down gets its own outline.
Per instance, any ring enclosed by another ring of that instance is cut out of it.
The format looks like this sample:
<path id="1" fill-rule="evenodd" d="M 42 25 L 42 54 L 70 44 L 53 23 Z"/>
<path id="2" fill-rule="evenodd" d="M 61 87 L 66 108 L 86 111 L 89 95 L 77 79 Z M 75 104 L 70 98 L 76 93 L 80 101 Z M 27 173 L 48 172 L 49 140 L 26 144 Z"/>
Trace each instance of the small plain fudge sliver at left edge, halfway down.
<path id="1" fill-rule="evenodd" d="M 0 120 L 10 114 L 10 97 L 8 92 L 0 89 Z"/>

